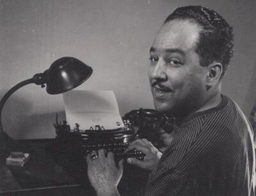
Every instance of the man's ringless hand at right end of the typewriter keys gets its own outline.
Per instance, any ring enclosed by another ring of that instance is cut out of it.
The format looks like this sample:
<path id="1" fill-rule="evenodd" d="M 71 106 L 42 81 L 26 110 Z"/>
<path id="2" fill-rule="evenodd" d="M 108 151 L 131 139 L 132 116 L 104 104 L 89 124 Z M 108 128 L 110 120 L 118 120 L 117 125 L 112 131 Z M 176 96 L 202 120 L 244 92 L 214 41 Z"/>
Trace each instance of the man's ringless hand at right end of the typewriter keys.
<path id="1" fill-rule="evenodd" d="M 158 151 L 158 149 L 147 139 L 136 139 L 134 142 L 130 143 L 129 147 L 126 148 L 125 153 L 134 150 L 142 151 L 142 153 L 146 155 L 144 161 L 136 158 L 128 158 L 127 163 L 150 171 L 153 171 L 154 168 L 158 166 L 159 160 L 162 157 L 162 152 Z"/>

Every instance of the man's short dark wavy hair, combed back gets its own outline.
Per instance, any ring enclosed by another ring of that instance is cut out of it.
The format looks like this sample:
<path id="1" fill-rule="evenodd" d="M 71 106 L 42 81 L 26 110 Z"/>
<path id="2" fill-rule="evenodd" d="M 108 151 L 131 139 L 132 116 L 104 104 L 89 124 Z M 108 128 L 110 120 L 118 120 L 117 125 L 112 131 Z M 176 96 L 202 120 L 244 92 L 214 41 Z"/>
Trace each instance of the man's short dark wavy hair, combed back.
<path id="1" fill-rule="evenodd" d="M 226 72 L 234 53 L 233 28 L 214 10 L 202 6 L 184 6 L 174 10 L 166 22 L 190 20 L 202 26 L 195 52 L 200 57 L 200 65 L 208 66 L 214 61 L 222 63 Z"/>

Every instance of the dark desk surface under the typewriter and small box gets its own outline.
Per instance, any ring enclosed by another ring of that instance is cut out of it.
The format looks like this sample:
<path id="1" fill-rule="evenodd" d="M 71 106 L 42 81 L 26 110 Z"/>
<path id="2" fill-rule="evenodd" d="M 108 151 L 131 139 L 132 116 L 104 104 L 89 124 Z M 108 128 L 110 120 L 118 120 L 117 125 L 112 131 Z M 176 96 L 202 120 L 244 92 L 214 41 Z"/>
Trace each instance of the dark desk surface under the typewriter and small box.
<path id="1" fill-rule="evenodd" d="M 46 146 L 53 139 L 19 140 L 20 151 L 30 153 L 25 167 L 0 165 L 0 194 L 2 195 L 94 195 L 82 171 L 67 170 L 46 154 Z M 75 167 L 75 166 L 74 166 Z M 82 168 L 83 166 L 80 166 Z M 138 175 L 138 169 L 125 167 L 118 189 L 122 195 L 141 195 L 146 185 L 146 173 Z M 137 177 L 133 177 L 133 173 Z"/>

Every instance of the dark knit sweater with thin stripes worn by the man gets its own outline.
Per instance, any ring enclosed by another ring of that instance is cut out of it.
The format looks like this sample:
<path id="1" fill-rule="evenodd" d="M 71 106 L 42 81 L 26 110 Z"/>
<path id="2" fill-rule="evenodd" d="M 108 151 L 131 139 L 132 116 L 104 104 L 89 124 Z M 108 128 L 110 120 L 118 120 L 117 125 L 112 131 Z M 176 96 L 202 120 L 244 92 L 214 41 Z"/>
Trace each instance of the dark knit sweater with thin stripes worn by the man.
<path id="1" fill-rule="evenodd" d="M 150 174 L 146 195 L 254 195 L 250 125 L 226 96 L 216 108 L 176 124 L 178 136 Z"/>

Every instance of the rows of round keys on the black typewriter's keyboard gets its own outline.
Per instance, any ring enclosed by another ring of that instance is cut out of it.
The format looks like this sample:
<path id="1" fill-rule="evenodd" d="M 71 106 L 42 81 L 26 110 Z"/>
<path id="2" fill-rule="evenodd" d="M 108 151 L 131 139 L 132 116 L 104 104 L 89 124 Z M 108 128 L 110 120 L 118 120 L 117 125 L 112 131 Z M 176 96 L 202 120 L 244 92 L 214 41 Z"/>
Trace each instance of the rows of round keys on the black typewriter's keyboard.
<path id="1" fill-rule="evenodd" d="M 83 144 L 82 147 L 88 155 L 91 151 L 97 151 L 99 149 L 106 149 L 106 151 L 111 151 L 114 153 L 115 159 L 127 159 L 129 157 L 134 157 L 139 160 L 144 160 L 145 154 L 141 151 L 129 151 L 126 154 L 124 151 L 129 146 L 130 143 L 91 143 L 91 144 Z"/>

